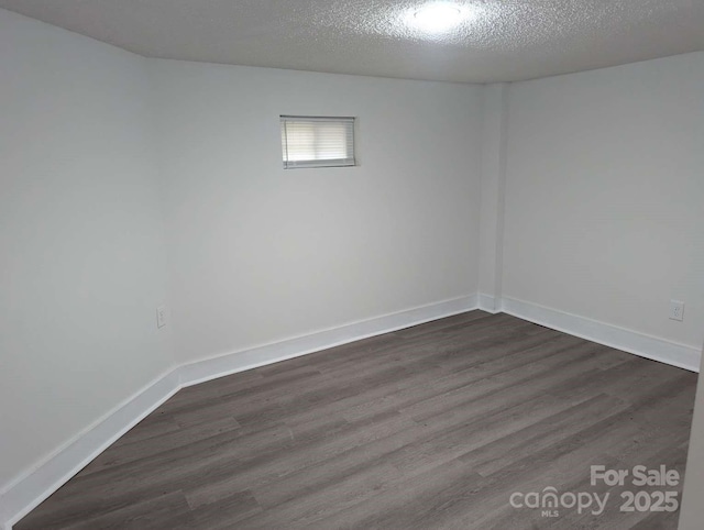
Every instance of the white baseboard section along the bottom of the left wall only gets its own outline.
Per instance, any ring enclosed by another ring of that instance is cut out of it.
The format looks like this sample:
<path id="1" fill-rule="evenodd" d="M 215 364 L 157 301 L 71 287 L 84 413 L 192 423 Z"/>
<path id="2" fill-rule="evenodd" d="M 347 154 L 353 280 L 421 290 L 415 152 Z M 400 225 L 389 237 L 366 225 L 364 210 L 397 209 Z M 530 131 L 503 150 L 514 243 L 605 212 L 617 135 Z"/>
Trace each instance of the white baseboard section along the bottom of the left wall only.
<path id="1" fill-rule="evenodd" d="M 158 377 L 10 483 L 0 492 L 3 527 L 10 530 L 178 389 L 176 371 Z"/>

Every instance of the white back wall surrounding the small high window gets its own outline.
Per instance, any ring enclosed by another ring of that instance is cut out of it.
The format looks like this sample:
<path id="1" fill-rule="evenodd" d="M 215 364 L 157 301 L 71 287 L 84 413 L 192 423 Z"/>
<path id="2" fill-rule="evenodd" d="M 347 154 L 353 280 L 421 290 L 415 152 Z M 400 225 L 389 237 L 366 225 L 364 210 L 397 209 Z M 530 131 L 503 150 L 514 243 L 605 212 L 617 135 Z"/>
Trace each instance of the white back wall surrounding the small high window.
<path id="1" fill-rule="evenodd" d="M 481 87 L 154 62 L 179 362 L 476 291 Z M 358 118 L 282 167 L 279 114 Z"/>

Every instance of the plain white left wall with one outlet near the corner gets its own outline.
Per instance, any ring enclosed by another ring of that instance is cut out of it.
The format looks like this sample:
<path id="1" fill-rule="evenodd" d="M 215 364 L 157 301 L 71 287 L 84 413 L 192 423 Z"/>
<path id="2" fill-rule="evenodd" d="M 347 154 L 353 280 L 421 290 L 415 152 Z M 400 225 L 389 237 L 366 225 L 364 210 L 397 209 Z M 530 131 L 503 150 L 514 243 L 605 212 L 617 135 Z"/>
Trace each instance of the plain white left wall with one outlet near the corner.
<path id="1" fill-rule="evenodd" d="M 146 62 L 0 10 L 0 490 L 172 363 Z"/>

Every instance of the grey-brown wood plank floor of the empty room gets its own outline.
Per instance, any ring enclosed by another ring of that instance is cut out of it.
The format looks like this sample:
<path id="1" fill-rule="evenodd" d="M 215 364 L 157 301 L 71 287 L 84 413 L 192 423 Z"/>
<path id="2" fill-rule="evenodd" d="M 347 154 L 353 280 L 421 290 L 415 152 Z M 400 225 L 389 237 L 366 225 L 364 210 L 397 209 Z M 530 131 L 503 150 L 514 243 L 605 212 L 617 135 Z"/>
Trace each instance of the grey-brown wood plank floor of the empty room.
<path id="1" fill-rule="evenodd" d="M 675 529 L 590 466 L 683 476 L 695 384 L 472 311 L 186 388 L 15 528 Z M 612 495 L 598 517 L 509 505 L 549 486 Z"/>

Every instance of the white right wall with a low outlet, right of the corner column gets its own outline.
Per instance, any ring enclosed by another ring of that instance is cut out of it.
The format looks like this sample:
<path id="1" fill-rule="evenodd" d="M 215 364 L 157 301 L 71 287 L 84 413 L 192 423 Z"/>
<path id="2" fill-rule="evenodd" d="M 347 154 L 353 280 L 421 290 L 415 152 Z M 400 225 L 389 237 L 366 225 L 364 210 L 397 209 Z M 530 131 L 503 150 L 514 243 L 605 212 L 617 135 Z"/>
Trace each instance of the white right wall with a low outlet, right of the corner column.
<path id="1" fill-rule="evenodd" d="M 703 88 L 704 53 L 510 86 L 504 296 L 698 351 Z"/>

